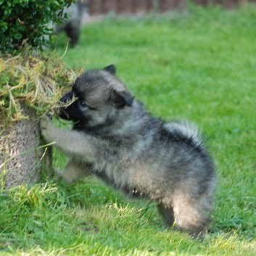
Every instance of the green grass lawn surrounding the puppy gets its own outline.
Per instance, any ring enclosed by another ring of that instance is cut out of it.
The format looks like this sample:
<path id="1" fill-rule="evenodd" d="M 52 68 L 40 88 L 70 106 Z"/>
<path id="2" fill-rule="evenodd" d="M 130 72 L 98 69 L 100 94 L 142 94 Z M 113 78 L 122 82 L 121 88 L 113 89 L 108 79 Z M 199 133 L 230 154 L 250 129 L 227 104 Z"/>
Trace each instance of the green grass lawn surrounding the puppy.
<path id="1" fill-rule="evenodd" d="M 255 33 L 255 5 L 107 17 L 64 57 L 85 69 L 114 63 L 154 115 L 202 127 L 218 166 L 205 241 L 163 230 L 154 203 L 94 179 L 47 181 L 2 191 L 0 255 L 256 255 Z M 57 46 L 62 55 L 63 36 Z"/>

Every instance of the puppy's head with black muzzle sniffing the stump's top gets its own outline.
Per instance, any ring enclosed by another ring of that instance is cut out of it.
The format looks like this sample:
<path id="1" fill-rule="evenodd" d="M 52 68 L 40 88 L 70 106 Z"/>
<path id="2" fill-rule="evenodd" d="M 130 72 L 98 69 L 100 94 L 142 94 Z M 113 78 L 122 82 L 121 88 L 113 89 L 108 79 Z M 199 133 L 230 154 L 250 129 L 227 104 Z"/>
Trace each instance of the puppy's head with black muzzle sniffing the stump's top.
<path id="1" fill-rule="evenodd" d="M 68 102 L 75 96 L 75 101 L 68 107 L 62 107 L 59 116 L 94 127 L 110 122 L 117 112 L 131 107 L 133 96 L 115 73 L 115 66 L 110 65 L 80 75 L 72 91 L 60 99 L 61 102 Z"/>

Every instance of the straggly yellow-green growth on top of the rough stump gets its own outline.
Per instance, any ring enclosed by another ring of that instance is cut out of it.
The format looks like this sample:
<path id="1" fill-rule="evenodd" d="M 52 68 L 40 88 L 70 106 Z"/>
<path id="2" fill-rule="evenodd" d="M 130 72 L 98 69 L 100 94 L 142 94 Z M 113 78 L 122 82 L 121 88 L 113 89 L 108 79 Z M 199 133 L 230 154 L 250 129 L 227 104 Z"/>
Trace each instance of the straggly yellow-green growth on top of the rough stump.
<path id="1" fill-rule="evenodd" d="M 36 110 L 38 117 L 53 114 L 81 71 L 72 70 L 57 54 L 0 55 L 0 127 L 30 118 L 22 114 L 21 103 Z"/>

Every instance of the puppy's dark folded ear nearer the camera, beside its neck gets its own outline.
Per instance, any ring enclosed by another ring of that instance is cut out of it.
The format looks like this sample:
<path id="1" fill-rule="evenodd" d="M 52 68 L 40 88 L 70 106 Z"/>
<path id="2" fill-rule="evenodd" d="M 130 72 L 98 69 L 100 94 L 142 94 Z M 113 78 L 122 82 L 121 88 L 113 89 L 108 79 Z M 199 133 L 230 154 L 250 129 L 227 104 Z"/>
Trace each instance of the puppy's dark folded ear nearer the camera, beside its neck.
<path id="1" fill-rule="evenodd" d="M 110 102 L 117 108 L 122 109 L 125 106 L 131 107 L 134 97 L 128 91 L 115 91 L 110 93 Z"/>

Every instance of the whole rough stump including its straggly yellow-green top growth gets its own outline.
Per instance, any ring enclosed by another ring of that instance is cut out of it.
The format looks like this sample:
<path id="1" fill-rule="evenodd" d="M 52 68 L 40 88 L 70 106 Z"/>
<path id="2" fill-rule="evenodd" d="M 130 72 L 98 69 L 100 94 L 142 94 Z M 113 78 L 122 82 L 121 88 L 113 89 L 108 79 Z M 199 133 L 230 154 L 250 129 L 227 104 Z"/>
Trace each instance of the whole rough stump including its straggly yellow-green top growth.
<path id="1" fill-rule="evenodd" d="M 36 182 L 43 170 L 51 174 L 51 150 L 40 139 L 39 120 L 54 114 L 75 78 L 56 54 L 12 57 L 0 52 L 1 186 Z"/>

